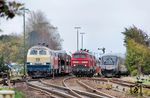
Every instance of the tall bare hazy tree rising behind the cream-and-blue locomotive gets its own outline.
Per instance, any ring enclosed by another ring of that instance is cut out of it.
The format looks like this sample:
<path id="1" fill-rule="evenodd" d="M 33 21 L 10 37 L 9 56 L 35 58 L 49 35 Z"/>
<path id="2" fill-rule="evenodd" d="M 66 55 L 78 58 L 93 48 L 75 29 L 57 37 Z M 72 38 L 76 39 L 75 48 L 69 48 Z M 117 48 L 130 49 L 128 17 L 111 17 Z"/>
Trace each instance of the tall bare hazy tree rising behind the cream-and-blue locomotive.
<path id="1" fill-rule="evenodd" d="M 57 27 L 50 24 L 41 11 L 30 14 L 27 20 L 26 32 L 29 47 L 44 43 L 51 49 L 61 49 L 63 40 L 60 38 Z"/>

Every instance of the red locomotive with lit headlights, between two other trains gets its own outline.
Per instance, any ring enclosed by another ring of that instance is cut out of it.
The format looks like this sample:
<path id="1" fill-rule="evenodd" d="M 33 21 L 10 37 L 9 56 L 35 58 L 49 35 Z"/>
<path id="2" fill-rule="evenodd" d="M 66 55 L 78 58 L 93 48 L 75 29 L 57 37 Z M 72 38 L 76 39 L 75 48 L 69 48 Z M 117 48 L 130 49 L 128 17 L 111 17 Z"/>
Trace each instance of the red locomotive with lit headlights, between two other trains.
<path id="1" fill-rule="evenodd" d="M 72 73 L 76 76 L 93 76 L 96 72 L 96 58 L 88 51 L 77 51 L 71 58 Z"/>

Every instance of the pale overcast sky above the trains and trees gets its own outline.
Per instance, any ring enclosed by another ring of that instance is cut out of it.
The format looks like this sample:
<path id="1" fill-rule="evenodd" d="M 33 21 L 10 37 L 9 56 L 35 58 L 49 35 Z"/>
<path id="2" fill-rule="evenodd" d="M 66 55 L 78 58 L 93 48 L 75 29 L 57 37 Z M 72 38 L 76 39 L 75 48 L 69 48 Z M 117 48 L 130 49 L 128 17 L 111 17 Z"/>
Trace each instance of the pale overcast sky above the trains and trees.
<path id="1" fill-rule="evenodd" d="M 9 0 L 11 1 L 11 0 Z M 18 0 L 25 3 L 31 11 L 41 10 L 49 22 L 58 27 L 64 40 L 63 49 L 76 50 L 75 26 L 84 35 L 84 48 L 98 52 L 105 47 L 106 51 L 125 53 L 125 27 L 137 26 L 146 33 L 150 32 L 150 0 Z M 22 17 L 13 20 L 0 20 L 1 34 L 23 31 Z M 148 33 L 150 34 L 150 33 Z M 81 47 L 81 35 L 79 36 Z"/>

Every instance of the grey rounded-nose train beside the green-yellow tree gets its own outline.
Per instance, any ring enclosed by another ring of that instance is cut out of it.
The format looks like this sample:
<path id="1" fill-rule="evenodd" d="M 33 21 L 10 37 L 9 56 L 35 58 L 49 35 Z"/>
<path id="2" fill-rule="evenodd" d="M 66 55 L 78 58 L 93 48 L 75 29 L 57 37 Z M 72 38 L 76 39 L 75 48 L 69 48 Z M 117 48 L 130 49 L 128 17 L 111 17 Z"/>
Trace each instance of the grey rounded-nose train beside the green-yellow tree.
<path id="1" fill-rule="evenodd" d="M 101 73 L 105 77 L 120 77 L 128 71 L 121 56 L 106 54 L 101 57 Z"/>

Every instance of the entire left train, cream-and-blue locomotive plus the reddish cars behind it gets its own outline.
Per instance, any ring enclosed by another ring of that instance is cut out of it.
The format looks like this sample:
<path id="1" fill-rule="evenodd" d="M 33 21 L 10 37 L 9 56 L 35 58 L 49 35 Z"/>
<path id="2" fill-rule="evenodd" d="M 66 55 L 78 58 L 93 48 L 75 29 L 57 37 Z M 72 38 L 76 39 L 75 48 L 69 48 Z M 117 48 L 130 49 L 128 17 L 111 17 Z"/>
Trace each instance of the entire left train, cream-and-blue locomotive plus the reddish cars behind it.
<path id="1" fill-rule="evenodd" d="M 71 57 L 62 50 L 37 45 L 28 50 L 27 73 L 30 77 L 51 77 L 71 72 Z"/>

